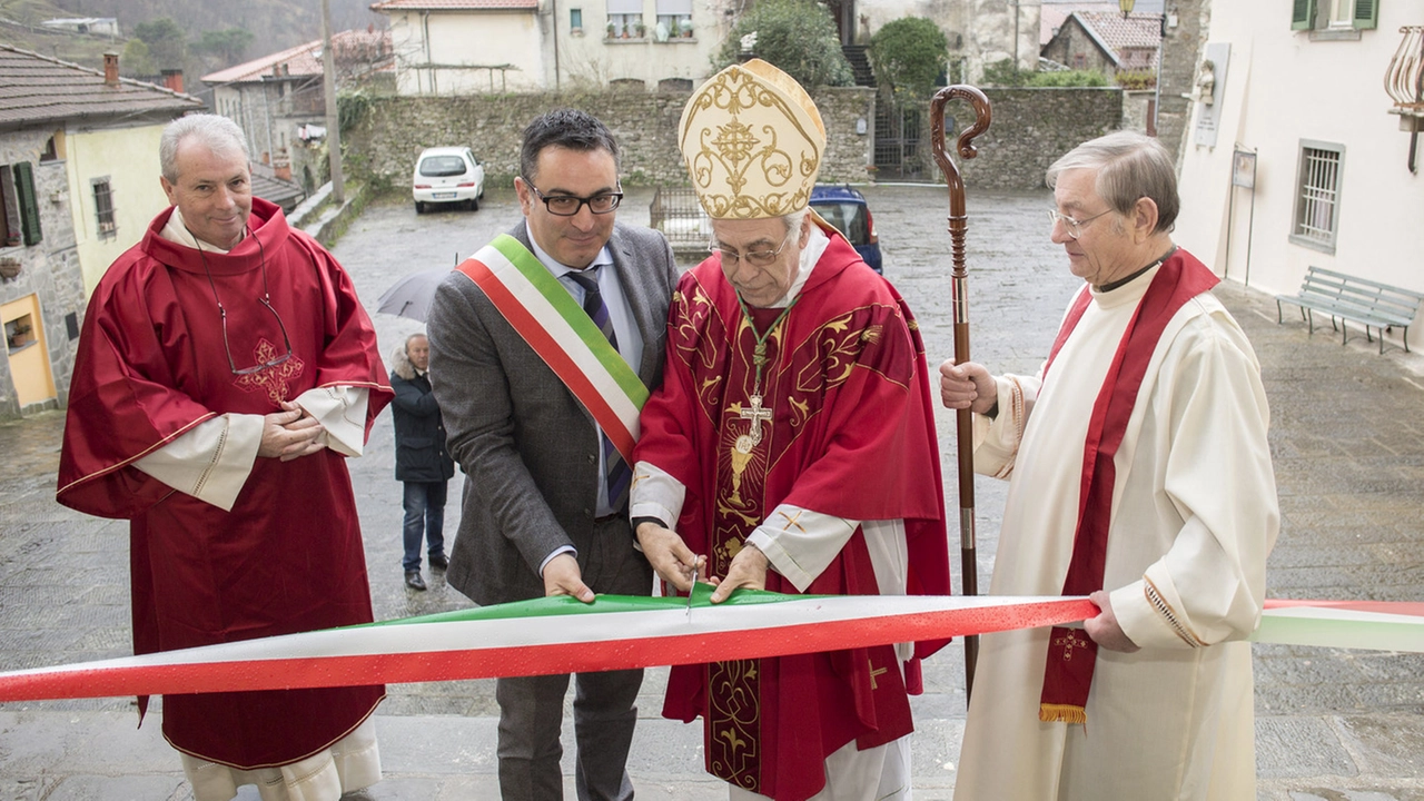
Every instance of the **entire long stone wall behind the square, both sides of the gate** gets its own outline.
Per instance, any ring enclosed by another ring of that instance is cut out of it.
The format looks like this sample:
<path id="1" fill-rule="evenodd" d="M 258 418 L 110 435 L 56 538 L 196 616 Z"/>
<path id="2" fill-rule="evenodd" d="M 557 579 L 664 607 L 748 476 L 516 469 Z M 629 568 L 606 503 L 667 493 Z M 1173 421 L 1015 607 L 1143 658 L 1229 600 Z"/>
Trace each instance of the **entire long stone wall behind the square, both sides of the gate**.
<path id="1" fill-rule="evenodd" d="M 975 140 L 978 158 L 961 164 L 977 190 L 1037 190 L 1044 170 L 1074 145 L 1115 131 L 1122 123 L 1122 90 L 991 88 L 988 133 Z M 518 171 L 520 131 L 548 108 L 571 105 L 602 120 L 622 145 L 622 174 L 629 185 L 688 185 L 676 135 L 685 93 L 562 93 L 474 97 L 386 97 L 372 101 L 356 130 L 345 134 L 347 170 L 383 185 L 410 187 L 416 157 L 426 147 L 468 144 L 484 161 L 486 180 L 511 185 Z M 823 182 L 864 182 L 871 172 L 874 130 L 871 90 L 822 88 L 816 105 L 829 147 Z M 958 127 L 970 124 L 968 105 L 953 104 Z M 863 121 L 863 125 L 859 123 Z M 930 125 L 923 125 L 927 138 Z M 956 134 L 957 135 L 957 134 Z M 928 143 L 920 147 L 923 175 L 940 178 Z"/>

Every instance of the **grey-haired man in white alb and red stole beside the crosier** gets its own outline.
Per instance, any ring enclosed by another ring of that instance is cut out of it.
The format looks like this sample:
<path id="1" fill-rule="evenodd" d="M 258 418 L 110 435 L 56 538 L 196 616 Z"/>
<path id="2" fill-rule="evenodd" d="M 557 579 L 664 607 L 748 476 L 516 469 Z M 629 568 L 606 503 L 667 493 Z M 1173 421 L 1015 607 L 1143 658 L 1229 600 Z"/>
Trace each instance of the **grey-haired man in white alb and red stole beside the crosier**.
<path id="1" fill-rule="evenodd" d="M 1084 279 L 1037 375 L 940 368 L 1008 479 L 991 594 L 1091 596 L 1082 629 L 985 634 L 957 801 L 1256 797 L 1252 654 L 1279 530 L 1260 365 L 1172 242 L 1172 158 L 1115 133 L 1048 171 Z"/>

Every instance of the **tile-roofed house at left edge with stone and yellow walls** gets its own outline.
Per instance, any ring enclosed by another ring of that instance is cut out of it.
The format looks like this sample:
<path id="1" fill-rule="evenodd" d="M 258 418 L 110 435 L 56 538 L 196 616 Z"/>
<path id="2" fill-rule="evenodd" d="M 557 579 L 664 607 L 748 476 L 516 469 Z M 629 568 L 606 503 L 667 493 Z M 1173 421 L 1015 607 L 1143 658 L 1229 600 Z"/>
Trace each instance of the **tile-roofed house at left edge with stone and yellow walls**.
<path id="1" fill-rule="evenodd" d="M 0 44 L 0 418 L 66 405 L 88 292 L 154 214 L 162 127 L 197 97 Z M 58 100 L 57 100 L 58 98 Z"/>

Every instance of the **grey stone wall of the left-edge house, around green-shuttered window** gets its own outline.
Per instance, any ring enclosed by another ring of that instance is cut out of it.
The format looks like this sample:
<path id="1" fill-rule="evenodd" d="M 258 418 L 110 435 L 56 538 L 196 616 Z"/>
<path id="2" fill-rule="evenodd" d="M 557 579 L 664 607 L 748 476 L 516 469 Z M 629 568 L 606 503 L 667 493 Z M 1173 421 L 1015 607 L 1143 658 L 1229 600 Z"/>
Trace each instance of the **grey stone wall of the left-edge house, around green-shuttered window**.
<path id="1" fill-rule="evenodd" d="M 0 305 L 34 295 L 40 304 L 44 342 L 48 348 L 50 373 L 56 396 L 21 409 L 10 375 L 9 359 L 0 359 L 0 419 L 64 406 L 74 371 L 74 341 L 66 318 L 75 325 L 84 316 L 84 275 L 74 245 L 74 221 L 70 217 L 68 178 L 63 160 L 40 161 L 44 144 L 54 130 L 23 130 L 0 134 L 0 164 L 28 161 L 34 170 L 34 191 L 40 208 L 41 239 L 34 245 L 0 247 L 0 258 L 16 259 L 20 274 L 0 281 Z M 3 345 L 3 343 L 0 343 Z"/>

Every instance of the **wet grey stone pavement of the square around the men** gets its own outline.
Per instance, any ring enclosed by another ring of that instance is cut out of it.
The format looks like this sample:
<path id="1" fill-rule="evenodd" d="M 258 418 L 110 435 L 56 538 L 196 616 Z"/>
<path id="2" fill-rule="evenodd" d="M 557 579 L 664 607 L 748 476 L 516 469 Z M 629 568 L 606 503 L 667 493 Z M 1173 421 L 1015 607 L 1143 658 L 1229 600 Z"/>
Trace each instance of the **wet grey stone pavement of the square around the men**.
<path id="1" fill-rule="evenodd" d="M 886 275 L 918 315 L 931 361 L 938 362 L 953 351 L 944 190 L 873 187 L 866 195 Z M 631 191 L 621 219 L 645 224 L 649 200 L 651 192 Z M 968 200 L 973 349 L 995 371 L 1037 366 L 1074 288 L 1042 229 L 1048 202 L 1047 192 L 971 192 Z M 517 215 L 511 192 L 496 190 L 476 214 L 417 217 L 409 204 L 375 205 L 336 255 L 373 308 L 402 274 L 451 265 Z M 1307 336 L 1304 325 L 1289 318 L 1276 325 L 1274 302 L 1253 288 L 1225 284 L 1218 294 L 1260 355 L 1272 403 L 1283 520 L 1269 593 L 1421 600 L 1424 358 L 1393 348 L 1376 355 L 1363 336 L 1346 346 L 1329 332 Z M 384 353 L 420 328 L 403 318 L 375 319 Z M 953 416 L 941 410 L 938 422 L 953 509 Z M 54 503 L 61 428 L 57 412 L 0 425 L 0 670 L 107 658 L 130 648 L 127 524 Z M 367 455 L 352 462 L 377 619 L 470 606 L 439 573 L 427 572 L 426 593 L 402 584 L 392 452 L 387 412 Z M 451 483 L 451 499 L 459 497 L 459 482 Z M 977 483 L 981 586 L 993 569 L 1002 490 L 1001 482 Z M 459 503 L 451 500 L 450 534 L 457 523 Z M 961 654 L 956 643 L 931 660 L 927 693 L 914 700 L 921 801 L 950 798 L 953 791 L 964 723 Z M 1260 798 L 1424 801 L 1424 657 L 1286 646 L 1256 646 L 1255 654 Z M 665 673 L 648 671 L 639 701 L 629 763 L 638 797 L 725 798 L 723 785 L 702 771 L 699 728 L 658 715 Z M 386 780 L 369 797 L 497 798 L 496 714 L 493 681 L 392 686 L 376 717 Z M 0 704 L 0 800 L 191 798 L 157 717 L 135 728 L 130 698 Z M 256 792 L 248 787 L 239 798 Z"/>

